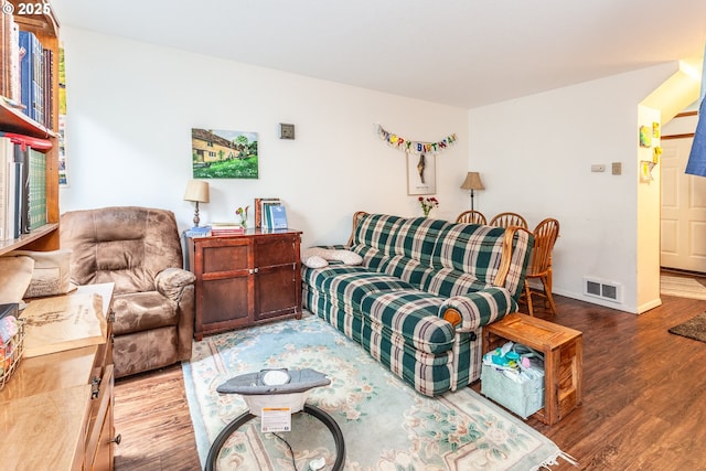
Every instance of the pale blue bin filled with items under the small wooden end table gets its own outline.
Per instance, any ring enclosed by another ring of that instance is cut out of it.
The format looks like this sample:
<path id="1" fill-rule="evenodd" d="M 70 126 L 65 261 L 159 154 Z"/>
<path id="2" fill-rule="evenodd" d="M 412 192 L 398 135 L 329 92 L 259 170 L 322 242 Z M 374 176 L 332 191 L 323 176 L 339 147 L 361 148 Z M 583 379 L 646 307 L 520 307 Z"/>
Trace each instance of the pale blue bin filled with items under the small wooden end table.
<path id="1" fill-rule="evenodd" d="M 544 407 L 544 357 L 513 342 L 488 352 L 481 394 L 526 419 Z"/>

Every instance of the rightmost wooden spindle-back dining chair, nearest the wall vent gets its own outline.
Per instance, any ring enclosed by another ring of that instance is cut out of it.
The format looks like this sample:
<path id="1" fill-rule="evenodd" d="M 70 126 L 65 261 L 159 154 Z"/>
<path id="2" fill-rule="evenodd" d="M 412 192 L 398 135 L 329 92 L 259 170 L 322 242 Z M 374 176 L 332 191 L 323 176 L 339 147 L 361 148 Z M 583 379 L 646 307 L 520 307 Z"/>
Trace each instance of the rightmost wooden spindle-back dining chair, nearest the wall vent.
<path id="1" fill-rule="evenodd" d="M 535 227 L 534 247 L 530 256 L 530 265 L 525 275 L 524 298 L 527 301 L 530 315 L 534 315 L 532 296 L 539 296 L 549 303 L 552 313 L 556 314 L 556 304 L 552 297 L 552 251 L 554 244 L 559 236 L 559 222 L 554 218 L 546 218 Z M 542 282 L 543 291 L 530 287 L 530 280 L 538 279 Z"/>

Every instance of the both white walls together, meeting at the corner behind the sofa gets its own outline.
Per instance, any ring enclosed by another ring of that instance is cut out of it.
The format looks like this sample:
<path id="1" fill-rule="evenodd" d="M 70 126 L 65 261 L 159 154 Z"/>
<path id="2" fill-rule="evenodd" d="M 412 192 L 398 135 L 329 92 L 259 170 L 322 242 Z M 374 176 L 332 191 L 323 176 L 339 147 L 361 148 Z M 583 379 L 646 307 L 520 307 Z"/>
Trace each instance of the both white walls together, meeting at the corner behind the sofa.
<path id="1" fill-rule="evenodd" d="M 211 180 L 202 221 L 234 220 L 254 197 L 278 195 L 304 246 L 342 243 L 357 210 L 421 214 L 406 194 L 405 154 L 379 140 L 375 122 L 415 140 L 456 132 L 437 159 L 434 216 L 467 208 L 459 186 L 479 171 L 486 190 L 477 208 L 488 216 L 559 220 L 557 293 L 629 312 L 651 302 L 637 295 L 638 105 L 677 64 L 466 110 L 72 28 L 62 36 L 71 184 L 62 212 L 165 207 L 186 228 L 191 128 L 247 130 L 259 132 L 260 178 Z M 278 139 L 279 122 L 293 122 L 297 139 Z M 622 175 L 610 174 L 611 162 L 622 162 Z M 591 173 L 592 163 L 607 171 Z M 621 302 L 584 296 L 584 276 L 620 283 Z"/>

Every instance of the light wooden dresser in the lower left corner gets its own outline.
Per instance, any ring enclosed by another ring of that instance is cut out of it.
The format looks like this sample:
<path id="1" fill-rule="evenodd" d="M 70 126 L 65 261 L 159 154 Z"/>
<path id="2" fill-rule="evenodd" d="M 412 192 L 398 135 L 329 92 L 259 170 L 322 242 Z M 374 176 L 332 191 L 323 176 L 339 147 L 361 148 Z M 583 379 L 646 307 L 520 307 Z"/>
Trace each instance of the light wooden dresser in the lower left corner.
<path id="1" fill-rule="evenodd" d="M 1 469 L 113 469 L 114 443 L 119 442 L 113 425 L 113 283 L 79 287 L 67 296 L 90 293 L 103 298 L 105 339 L 23 357 L 0 390 Z"/>

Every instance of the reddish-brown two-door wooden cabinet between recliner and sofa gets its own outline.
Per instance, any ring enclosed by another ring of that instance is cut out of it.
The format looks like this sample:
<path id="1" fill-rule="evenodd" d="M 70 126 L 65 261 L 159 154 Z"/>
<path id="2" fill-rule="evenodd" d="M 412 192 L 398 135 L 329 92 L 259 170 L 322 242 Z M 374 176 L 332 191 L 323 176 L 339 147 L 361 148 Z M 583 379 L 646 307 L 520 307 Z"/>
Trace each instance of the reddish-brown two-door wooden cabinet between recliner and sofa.
<path id="1" fill-rule="evenodd" d="M 248 229 L 227 237 L 186 238 L 196 275 L 194 338 L 301 318 L 301 232 Z"/>

